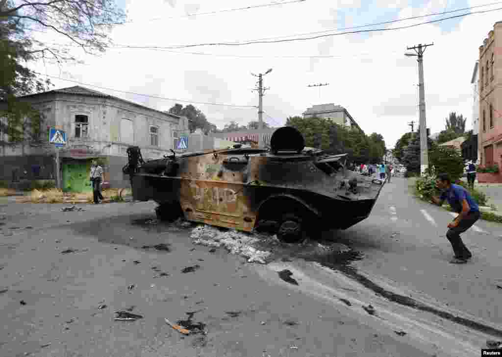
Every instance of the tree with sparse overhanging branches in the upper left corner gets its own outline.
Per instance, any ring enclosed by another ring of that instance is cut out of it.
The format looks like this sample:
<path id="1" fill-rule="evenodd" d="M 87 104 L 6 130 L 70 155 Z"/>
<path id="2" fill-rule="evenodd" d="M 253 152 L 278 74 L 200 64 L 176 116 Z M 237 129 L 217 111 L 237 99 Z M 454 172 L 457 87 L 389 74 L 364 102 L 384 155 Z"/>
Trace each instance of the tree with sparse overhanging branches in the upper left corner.
<path id="1" fill-rule="evenodd" d="M 70 40 L 85 53 L 96 54 L 109 45 L 107 31 L 125 18 L 113 0 L 0 0 L 0 117 L 7 118 L 1 125 L 9 134 L 10 144 L 40 139 L 43 116 L 19 96 L 48 90 L 50 81 L 41 80 L 27 64 L 47 59 L 57 63 L 75 60 L 65 47 L 39 41 L 34 34 L 47 30 Z"/>

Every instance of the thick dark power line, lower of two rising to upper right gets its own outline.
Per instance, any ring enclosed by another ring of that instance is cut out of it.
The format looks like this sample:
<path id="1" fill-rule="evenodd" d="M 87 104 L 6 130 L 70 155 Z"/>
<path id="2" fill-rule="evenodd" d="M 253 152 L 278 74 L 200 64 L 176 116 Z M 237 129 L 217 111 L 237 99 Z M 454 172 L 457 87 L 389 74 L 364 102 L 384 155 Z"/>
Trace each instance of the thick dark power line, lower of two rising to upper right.
<path id="1" fill-rule="evenodd" d="M 340 35 L 350 35 L 350 34 L 379 32 L 379 31 L 383 32 L 383 31 L 403 30 L 403 29 L 409 29 L 409 28 L 427 25 L 427 24 L 434 24 L 434 23 L 445 21 L 445 20 L 462 18 L 462 17 L 469 16 L 469 15 L 491 13 L 493 11 L 499 11 L 499 10 L 502 10 L 502 8 L 484 10 L 484 11 L 476 11 L 476 12 L 471 12 L 471 13 L 467 13 L 467 14 L 460 14 L 460 15 L 450 16 L 447 18 L 431 20 L 431 21 L 426 21 L 426 22 L 419 23 L 419 24 L 413 24 L 413 25 L 407 25 L 407 26 L 401 26 L 401 27 L 395 27 L 395 28 L 346 31 L 346 32 L 340 32 L 340 33 L 336 33 L 336 34 L 324 34 L 324 35 L 317 35 L 317 36 L 311 36 L 311 37 L 301 37 L 301 38 L 273 40 L 273 41 L 248 40 L 245 42 L 238 42 L 238 43 L 236 43 L 236 42 L 233 42 L 233 43 L 232 42 L 214 42 L 214 43 L 177 45 L 177 46 L 129 46 L 129 45 L 128 46 L 119 45 L 119 46 L 126 47 L 126 48 L 137 48 L 137 49 L 181 49 L 181 48 L 191 48 L 191 47 L 200 47 L 200 46 L 244 46 L 244 45 L 254 45 L 254 44 L 272 44 L 272 43 L 293 42 L 293 41 L 306 41 L 306 40 L 314 40 L 314 39 L 319 39 L 319 38 L 324 38 L 324 37 L 332 37 L 332 36 L 340 36 Z"/>

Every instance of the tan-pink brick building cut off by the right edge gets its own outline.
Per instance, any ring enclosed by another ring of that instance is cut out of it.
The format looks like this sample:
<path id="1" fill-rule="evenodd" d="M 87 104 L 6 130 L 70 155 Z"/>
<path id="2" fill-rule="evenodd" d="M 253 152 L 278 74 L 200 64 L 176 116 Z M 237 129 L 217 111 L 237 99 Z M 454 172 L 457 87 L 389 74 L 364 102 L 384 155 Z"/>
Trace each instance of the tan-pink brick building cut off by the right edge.
<path id="1" fill-rule="evenodd" d="M 479 133 L 480 164 L 502 167 L 502 21 L 493 25 L 479 47 Z"/>

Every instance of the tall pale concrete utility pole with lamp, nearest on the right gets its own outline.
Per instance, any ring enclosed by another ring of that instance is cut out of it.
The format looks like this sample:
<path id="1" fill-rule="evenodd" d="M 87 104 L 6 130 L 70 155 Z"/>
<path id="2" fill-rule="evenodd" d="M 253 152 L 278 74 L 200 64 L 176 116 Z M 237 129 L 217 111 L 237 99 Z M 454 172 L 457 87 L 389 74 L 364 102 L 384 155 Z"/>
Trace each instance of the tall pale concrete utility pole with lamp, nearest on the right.
<path id="1" fill-rule="evenodd" d="M 425 121 L 425 89 L 424 89 L 424 51 L 428 46 L 434 44 L 408 47 L 408 50 L 415 50 L 416 54 L 405 53 L 405 56 L 417 56 L 418 80 L 419 80 L 419 110 L 420 110 L 420 172 L 424 173 L 429 167 L 428 145 L 427 145 L 427 124 Z"/>

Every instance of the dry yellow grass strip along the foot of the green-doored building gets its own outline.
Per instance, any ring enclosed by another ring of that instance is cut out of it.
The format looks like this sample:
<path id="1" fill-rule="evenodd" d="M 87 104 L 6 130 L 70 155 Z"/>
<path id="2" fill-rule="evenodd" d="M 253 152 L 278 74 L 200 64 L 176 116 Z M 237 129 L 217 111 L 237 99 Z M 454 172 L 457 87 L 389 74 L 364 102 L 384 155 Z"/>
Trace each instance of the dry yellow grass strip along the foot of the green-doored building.
<path id="1" fill-rule="evenodd" d="M 103 202 L 123 202 L 120 189 L 106 189 L 102 191 Z M 32 190 L 29 195 L 20 197 L 19 203 L 92 203 L 92 192 L 68 193 L 60 189 Z"/>

